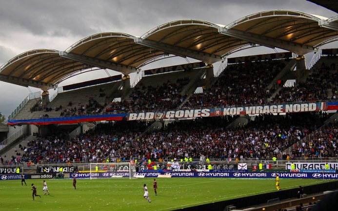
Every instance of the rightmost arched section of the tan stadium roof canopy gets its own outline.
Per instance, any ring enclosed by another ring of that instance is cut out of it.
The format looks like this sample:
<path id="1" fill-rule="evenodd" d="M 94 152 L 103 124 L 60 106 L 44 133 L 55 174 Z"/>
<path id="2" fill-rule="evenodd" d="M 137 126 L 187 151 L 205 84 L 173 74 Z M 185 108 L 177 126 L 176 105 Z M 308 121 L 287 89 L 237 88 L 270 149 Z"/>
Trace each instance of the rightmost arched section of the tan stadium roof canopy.
<path id="1" fill-rule="evenodd" d="M 221 33 L 304 55 L 337 38 L 338 22 L 337 17 L 328 19 L 298 11 L 272 10 L 238 19 Z"/>

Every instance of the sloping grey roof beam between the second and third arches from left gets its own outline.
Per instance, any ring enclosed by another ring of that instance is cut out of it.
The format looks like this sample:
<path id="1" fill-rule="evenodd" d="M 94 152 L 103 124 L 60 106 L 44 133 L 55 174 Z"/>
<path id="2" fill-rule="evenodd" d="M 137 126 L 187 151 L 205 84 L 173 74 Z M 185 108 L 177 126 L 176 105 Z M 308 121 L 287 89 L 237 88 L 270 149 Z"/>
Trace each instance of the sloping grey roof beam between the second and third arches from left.
<path id="1" fill-rule="evenodd" d="M 163 51 L 163 52 L 173 54 L 173 55 L 183 57 L 183 58 L 186 58 L 186 57 L 195 58 L 197 60 L 203 61 L 208 64 L 212 64 L 217 61 L 224 60 L 223 58 L 216 56 L 216 55 L 211 55 L 211 54 L 207 54 L 204 52 L 198 52 L 198 51 L 194 51 L 191 49 L 185 49 L 185 48 L 181 48 L 181 47 L 177 47 L 177 46 L 173 46 L 169 44 L 159 43 L 159 42 L 152 41 L 149 39 L 135 38 L 134 41 L 135 43 L 139 45 L 147 46 L 149 48 L 154 48 L 159 51 Z"/>

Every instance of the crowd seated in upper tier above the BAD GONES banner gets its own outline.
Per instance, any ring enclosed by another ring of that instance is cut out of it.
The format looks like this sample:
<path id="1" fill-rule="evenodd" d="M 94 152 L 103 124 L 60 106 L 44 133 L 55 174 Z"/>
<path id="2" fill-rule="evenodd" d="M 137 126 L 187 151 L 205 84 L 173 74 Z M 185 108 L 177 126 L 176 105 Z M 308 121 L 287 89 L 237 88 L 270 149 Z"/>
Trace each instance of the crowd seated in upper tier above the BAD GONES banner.
<path id="1" fill-rule="evenodd" d="M 271 100 L 269 98 L 276 90 L 267 87 L 285 67 L 286 60 L 269 59 L 229 64 L 210 88 L 204 87 L 203 93 L 191 96 L 180 95 L 183 87 L 190 81 L 188 77 L 179 78 L 175 82 L 167 81 L 159 86 L 145 86 L 140 81 L 125 100 L 113 101 L 107 106 L 107 103 L 100 104 L 90 97 L 86 105 L 73 107 L 70 102 L 66 108 L 59 106 L 55 111 L 61 110 L 60 116 L 76 116 L 175 110 L 186 97 L 189 99 L 182 109 L 337 99 L 338 70 L 335 62 L 327 60 L 327 63 L 322 62 L 306 81 L 297 82 L 294 87 L 281 87 Z M 280 79 L 278 84 L 282 85 Z M 332 95 L 328 95 L 328 89 L 331 89 Z M 99 97 L 107 97 L 102 89 L 99 89 Z M 44 110 L 47 114 L 53 109 L 46 107 Z M 48 114 L 41 116 L 44 117 L 48 117 Z"/>

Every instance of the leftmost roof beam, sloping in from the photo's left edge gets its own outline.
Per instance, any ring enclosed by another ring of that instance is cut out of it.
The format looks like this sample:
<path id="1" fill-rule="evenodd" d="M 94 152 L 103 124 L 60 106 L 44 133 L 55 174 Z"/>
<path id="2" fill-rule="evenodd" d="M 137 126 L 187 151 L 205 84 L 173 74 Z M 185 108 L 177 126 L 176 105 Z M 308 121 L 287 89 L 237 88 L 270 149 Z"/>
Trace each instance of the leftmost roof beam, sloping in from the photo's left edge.
<path id="1" fill-rule="evenodd" d="M 53 89 L 53 84 L 48 84 L 45 82 L 38 82 L 36 80 L 30 80 L 30 79 L 25 79 L 25 78 L 20 78 L 20 77 L 5 76 L 5 75 L 0 74 L 0 80 L 7 82 L 7 83 L 24 86 L 24 87 L 28 87 L 28 86 L 36 87 L 43 91 Z"/>

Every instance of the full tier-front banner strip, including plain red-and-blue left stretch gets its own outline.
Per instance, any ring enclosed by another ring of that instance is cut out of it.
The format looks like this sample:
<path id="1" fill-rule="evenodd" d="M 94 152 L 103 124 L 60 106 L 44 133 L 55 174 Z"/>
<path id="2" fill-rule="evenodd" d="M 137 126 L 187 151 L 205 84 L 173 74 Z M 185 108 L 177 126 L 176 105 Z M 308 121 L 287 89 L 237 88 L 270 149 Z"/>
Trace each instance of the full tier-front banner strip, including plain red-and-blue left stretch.
<path id="1" fill-rule="evenodd" d="M 151 119 L 187 119 L 194 117 L 213 117 L 225 115 L 258 115 L 258 114 L 280 114 L 297 113 L 312 111 L 333 111 L 338 110 L 338 101 L 334 102 L 314 102 L 314 103 L 294 103 L 276 104 L 259 106 L 238 106 L 228 108 L 206 108 L 190 110 L 172 110 L 142 112 L 131 114 L 111 114 L 111 115 L 91 115 L 91 116 L 72 116 L 55 117 L 41 119 L 8 120 L 9 125 L 48 125 L 48 124 L 74 124 L 78 122 L 97 122 L 97 121 L 121 121 L 124 117 L 128 120 L 151 120 Z"/>

